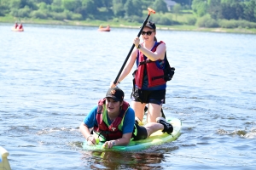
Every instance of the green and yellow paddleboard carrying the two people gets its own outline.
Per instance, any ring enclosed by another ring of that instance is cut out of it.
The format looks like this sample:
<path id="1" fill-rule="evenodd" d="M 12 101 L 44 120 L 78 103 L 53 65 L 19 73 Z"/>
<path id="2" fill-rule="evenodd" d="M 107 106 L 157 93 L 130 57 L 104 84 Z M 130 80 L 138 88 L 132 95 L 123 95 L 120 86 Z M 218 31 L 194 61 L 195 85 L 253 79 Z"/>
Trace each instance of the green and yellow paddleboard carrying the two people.
<path id="1" fill-rule="evenodd" d="M 108 151 L 108 150 L 114 150 L 114 151 L 132 151 L 132 150 L 146 150 L 150 146 L 157 145 L 157 144 L 164 144 L 166 142 L 172 142 L 173 140 L 177 139 L 180 135 L 182 122 L 177 118 L 166 118 L 167 122 L 170 122 L 173 126 L 173 132 L 172 134 L 168 133 L 162 133 L 161 131 L 157 131 L 155 133 L 152 133 L 148 139 L 143 140 L 137 140 L 133 141 L 131 140 L 130 143 L 126 146 L 113 146 L 113 148 L 103 148 L 102 142 L 96 145 L 88 145 L 87 141 L 83 144 L 84 150 L 93 150 L 93 151 Z"/>

